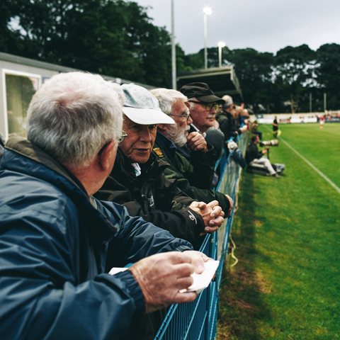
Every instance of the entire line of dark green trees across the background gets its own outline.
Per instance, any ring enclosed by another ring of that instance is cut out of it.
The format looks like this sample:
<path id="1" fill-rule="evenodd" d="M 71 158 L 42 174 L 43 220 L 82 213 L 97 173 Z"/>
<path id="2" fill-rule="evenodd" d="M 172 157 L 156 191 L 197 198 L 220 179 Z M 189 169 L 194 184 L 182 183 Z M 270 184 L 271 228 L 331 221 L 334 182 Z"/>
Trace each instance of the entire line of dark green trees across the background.
<path id="1" fill-rule="evenodd" d="M 171 35 L 147 8 L 123 0 L 1 0 L 0 51 L 154 86 L 171 84 Z M 222 48 L 255 113 L 340 109 L 340 45 L 285 47 L 276 55 Z M 176 45 L 177 72 L 204 67 L 204 51 Z M 218 67 L 217 47 L 208 67 Z"/>

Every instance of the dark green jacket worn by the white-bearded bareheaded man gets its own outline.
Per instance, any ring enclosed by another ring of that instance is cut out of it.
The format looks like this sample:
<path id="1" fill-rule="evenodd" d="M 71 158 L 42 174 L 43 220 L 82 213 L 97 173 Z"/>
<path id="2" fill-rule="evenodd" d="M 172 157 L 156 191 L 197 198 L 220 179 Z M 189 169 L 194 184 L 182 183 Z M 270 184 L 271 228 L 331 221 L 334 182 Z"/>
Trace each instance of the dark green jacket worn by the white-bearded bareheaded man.
<path id="1" fill-rule="evenodd" d="M 208 181 L 207 176 L 205 176 L 207 170 L 205 170 L 204 164 L 193 162 L 193 160 L 189 164 L 188 160 L 177 152 L 174 143 L 159 132 L 157 132 L 156 141 L 154 142 L 154 152 L 160 159 L 170 164 L 164 170 L 164 174 L 168 179 L 176 179 L 177 186 L 181 191 L 191 198 L 205 203 L 218 200 L 222 210 L 225 213 L 228 212 L 230 203 L 225 195 L 208 189 L 210 183 L 207 188 Z"/>

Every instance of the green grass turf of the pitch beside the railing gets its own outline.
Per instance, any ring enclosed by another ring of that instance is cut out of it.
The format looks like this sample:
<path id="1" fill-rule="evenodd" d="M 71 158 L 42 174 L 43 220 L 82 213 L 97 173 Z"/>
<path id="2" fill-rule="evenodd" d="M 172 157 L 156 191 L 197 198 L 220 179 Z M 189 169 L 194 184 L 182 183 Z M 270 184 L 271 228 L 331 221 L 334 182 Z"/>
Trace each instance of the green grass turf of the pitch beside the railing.
<path id="1" fill-rule="evenodd" d="M 273 138 L 268 128 L 263 140 Z M 340 124 L 280 130 L 340 187 Z M 340 339 L 340 193 L 280 137 L 270 154 L 286 165 L 280 179 L 242 172 L 232 229 L 239 263 L 225 263 L 217 339 Z"/>

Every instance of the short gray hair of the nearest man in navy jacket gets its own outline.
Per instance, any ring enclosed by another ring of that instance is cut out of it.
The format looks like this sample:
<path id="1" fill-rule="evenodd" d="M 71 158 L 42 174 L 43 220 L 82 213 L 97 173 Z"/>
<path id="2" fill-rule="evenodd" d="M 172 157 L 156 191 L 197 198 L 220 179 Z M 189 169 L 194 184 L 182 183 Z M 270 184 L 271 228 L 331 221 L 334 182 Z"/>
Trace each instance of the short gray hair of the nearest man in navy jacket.
<path id="1" fill-rule="evenodd" d="M 82 72 L 57 74 L 35 93 L 28 108 L 28 140 L 71 169 L 88 166 L 118 140 L 123 124 L 118 84 Z"/>

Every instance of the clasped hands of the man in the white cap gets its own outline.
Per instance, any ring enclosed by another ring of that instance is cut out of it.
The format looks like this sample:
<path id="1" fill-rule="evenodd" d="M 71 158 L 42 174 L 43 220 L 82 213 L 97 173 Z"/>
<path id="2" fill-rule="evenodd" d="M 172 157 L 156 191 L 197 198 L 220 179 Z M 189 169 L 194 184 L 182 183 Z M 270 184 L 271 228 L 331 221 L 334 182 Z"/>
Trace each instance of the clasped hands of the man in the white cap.
<path id="1" fill-rule="evenodd" d="M 218 205 L 217 200 L 212 200 L 210 203 L 206 204 L 204 202 L 193 202 L 189 206 L 192 210 L 198 212 L 203 218 L 205 229 L 202 235 L 207 232 L 211 234 L 216 232 L 218 227 L 220 227 L 225 220 L 225 212 Z"/>

